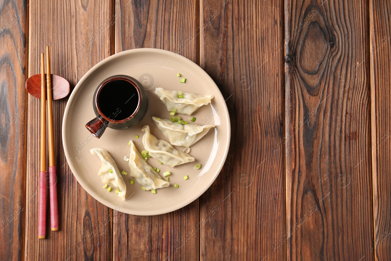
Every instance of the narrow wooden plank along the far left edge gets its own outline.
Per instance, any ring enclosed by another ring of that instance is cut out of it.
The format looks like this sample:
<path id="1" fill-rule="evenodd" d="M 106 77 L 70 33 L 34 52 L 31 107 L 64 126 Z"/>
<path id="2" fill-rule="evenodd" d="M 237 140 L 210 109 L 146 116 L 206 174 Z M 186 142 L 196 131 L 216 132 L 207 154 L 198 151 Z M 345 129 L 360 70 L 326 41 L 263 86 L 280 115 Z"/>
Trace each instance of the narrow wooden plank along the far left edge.
<path id="1" fill-rule="evenodd" d="M 27 8 L 0 4 L 0 201 L 2 260 L 22 260 L 25 232 Z"/>

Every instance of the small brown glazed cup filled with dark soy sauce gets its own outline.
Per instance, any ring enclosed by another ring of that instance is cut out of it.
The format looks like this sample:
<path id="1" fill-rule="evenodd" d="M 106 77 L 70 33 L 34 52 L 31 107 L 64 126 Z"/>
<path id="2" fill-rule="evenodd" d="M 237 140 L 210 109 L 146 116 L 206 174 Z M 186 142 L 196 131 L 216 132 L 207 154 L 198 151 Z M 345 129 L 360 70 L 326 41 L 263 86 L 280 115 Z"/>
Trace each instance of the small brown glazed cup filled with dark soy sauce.
<path id="1" fill-rule="evenodd" d="M 99 84 L 92 105 L 96 117 L 86 128 L 99 139 L 107 127 L 126 130 L 138 124 L 147 113 L 148 96 L 135 78 L 115 75 Z"/>

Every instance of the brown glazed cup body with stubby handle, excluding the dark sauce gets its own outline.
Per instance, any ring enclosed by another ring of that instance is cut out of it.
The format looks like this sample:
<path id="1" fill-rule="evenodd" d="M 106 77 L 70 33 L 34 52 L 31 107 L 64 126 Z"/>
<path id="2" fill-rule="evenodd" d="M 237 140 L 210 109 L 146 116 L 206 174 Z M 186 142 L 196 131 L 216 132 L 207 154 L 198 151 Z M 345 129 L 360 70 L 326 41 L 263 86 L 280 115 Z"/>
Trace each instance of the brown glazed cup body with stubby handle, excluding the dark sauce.
<path id="1" fill-rule="evenodd" d="M 104 86 L 106 86 L 108 83 L 111 83 L 112 81 L 116 81 L 116 80 L 124 80 L 131 83 L 131 85 L 133 85 L 136 88 L 138 94 L 138 104 L 136 110 L 133 112 L 132 115 L 122 120 L 115 120 L 112 117 L 107 117 L 106 115 L 104 115 L 100 110 L 99 103 L 98 103 L 99 94 L 102 88 L 104 88 Z M 102 81 L 102 83 L 100 83 L 98 88 L 95 90 L 93 100 L 92 100 L 92 105 L 93 105 L 95 115 L 97 117 L 89 121 L 86 124 L 86 128 L 92 133 L 92 135 L 94 135 L 99 139 L 107 127 L 114 130 L 126 130 L 138 124 L 144 118 L 145 113 L 147 113 L 148 96 L 147 96 L 147 92 L 145 91 L 145 89 L 143 88 L 142 84 L 139 81 L 137 81 L 133 77 L 119 74 L 119 75 L 108 77 L 107 79 Z"/>

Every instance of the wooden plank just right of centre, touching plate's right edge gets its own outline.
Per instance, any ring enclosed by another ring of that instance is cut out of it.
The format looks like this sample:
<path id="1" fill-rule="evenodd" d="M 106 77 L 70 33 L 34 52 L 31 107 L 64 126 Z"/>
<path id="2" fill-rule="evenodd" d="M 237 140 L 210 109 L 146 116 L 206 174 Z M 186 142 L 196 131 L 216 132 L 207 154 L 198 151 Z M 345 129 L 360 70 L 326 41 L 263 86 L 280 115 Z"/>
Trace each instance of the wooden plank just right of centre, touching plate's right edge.
<path id="1" fill-rule="evenodd" d="M 284 260 L 283 2 L 200 3 L 201 67 L 231 117 L 226 164 L 201 196 L 201 260 Z"/>

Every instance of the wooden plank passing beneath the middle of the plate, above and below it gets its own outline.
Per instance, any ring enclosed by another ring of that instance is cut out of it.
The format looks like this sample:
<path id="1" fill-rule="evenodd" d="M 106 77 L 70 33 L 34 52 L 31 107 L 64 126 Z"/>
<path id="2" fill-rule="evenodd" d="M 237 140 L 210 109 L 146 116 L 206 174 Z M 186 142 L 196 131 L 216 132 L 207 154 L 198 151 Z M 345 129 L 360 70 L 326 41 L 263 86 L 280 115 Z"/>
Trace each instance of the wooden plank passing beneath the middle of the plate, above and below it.
<path id="1" fill-rule="evenodd" d="M 116 0 L 115 51 L 149 47 L 170 50 L 198 63 L 198 1 Z M 197 260 L 199 200 L 158 216 L 114 211 L 113 259 Z M 126 242 L 126 243 L 124 243 Z"/>

